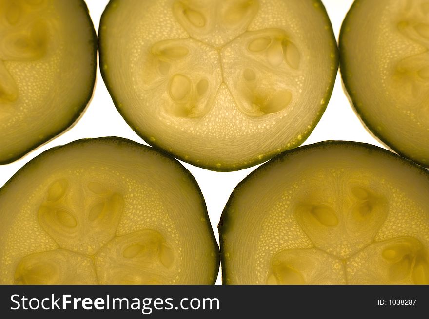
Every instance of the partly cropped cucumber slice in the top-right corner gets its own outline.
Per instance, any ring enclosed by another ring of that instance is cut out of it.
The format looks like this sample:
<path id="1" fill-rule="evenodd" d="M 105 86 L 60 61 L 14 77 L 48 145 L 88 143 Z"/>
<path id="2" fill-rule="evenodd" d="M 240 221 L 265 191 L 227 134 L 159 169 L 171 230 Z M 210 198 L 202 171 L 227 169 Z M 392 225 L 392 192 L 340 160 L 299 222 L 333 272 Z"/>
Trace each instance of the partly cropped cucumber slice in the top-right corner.
<path id="1" fill-rule="evenodd" d="M 356 0 L 339 43 L 344 85 L 369 130 L 429 167 L 429 1 Z"/>

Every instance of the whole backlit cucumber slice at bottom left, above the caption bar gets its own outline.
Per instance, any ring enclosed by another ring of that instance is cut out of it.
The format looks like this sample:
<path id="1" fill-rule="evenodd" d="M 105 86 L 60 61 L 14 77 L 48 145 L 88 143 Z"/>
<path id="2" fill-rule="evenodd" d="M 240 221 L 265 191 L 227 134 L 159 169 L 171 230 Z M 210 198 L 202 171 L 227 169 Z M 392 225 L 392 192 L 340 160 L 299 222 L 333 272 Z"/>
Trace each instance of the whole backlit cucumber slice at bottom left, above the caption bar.
<path id="1" fill-rule="evenodd" d="M 212 284 L 219 250 L 175 159 L 107 137 L 48 150 L 0 189 L 0 284 Z"/>

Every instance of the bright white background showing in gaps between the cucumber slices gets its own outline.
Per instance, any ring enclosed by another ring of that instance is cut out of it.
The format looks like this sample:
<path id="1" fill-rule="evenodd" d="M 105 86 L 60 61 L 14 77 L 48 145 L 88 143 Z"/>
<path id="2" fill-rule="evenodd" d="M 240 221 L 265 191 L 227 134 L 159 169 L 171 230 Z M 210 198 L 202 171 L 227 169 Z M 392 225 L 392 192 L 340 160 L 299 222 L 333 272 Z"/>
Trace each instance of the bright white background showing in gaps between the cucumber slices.
<path id="1" fill-rule="evenodd" d="M 96 30 L 108 0 L 86 0 L 91 18 Z M 349 10 L 352 0 L 322 0 L 331 19 L 335 36 L 338 34 L 341 22 Z M 314 48 L 317 50 L 317 48 Z M 99 136 L 121 136 L 138 143 L 146 144 L 125 123 L 113 105 L 99 71 L 97 71 L 97 85 L 94 97 L 83 117 L 69 131 L 56 139 L 27 154 L 24 158 L 0 166 L 0 187 L 15 174 L 25 163 L 57 145 L 63 145 L 71 141 Z M 341 86 L 338 74 L 331 100 L 319 124 L 304 144 L 312 144 L 324 140 L 351 140 L 382 146 L 362 126 L 360 120 L 353 112 Z M 206 169 L 200 169 L 187 163 L 183 163 L 195 176 L 207 203 L 209 216 L 212 222 L 215 236 L 218 239 L 217 222 L 219 221 L 223 207 L 225 206 L 234 187 L 256 167 L 243 169 L 237 172 L 219 173 Z M 220 272 L 217 284 L 220 284 Z"/>

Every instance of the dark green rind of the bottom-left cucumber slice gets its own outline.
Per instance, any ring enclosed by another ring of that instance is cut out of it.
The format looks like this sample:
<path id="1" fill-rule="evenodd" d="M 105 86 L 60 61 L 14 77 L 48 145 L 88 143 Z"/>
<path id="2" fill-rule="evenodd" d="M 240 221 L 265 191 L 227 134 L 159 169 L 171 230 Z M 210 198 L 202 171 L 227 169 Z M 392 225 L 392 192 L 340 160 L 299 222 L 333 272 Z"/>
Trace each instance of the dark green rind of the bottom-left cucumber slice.
<path id="1" fill-rule="evenodd" d="M 12 184 L 15 180 L 18 180 L 20 178 L 21 175 L 25 175 L 25 173 L 28 170 L 31 170 L 34 164 L 38 164 L 39 162 L 42 162 L 44 160 L 44 158 L 48 157 L 51 155 L 51 153 L 57 152 L 60 149 L 66 147 L 66 148 L 70 148 L 70 147 L 77 147 L 82 143 L 88 144 L 88 143 L 114 143 L 114 144 L 122 144 L 122 145 L 128 145 L 131 146 L 133 148 L 138 148 L 140 149 L 142 152 L 152 152 L 155 153 L 156 155 L 160 155 L 163 156 L 164 159 L 166 161 L 169 161 L 172 165 L 174 165 L 181 173 L 183 173 L 191 182 L 191 184 L 193 185 L 193 187 L 195 188 L 196 192 L 198 193 L 198 197 L 200 198 L 200 205 L 203 208 L 203 215 L 204 218 L 206 220 L 206 225 L 208 228 L 208 232 L 210 233 L 210 237 L 211 237 L 211 241 L 213 244 L 213 251 L 216 252 L 216 256 L 215 256 L 215 263 L 216 263 L 216 268 L 214 271 L 214 275 L 213 275 L 213 282 L 212 284 L 215 284 L 216 279 L 217 279 L 217 274 L 219 272 L 219 263 L 220 263 L 220 253 L 219 253 L 219 247 L 216 243 L 216 238 L 215 238 L 215 233 L 213 232 L 213 228 L 212 225 L 210 224 L 210 218 L 209 218 L 209 214 L 207 211 L 207 206 L 206 206 L 206 202 L 204 201 L 204 196 L 201 192 L 201 189 L 198 186 L 198 183 L 195 180 L 195 177 L 191 174 L 191 172 L 186 169 L 179 161 L 177 161 L 175 158 L 166 155 L 163 152 L 159 152 L 158 150 L 143 145 L 143 144 L 139 144 L 137 142 L 128 140 L 126 138 L 122 138 L 122 137 L 117 137 L 117 136 L 107 136 L 107 137 L 98 137 L 98 138 L 84 138 L 84 139 L 80 139 L 80 140 L 76 140 L 73 141 L 71 143 L 65 144 L 65 145 L 60 145 L 60 146 L 56 146 L 53 147 L 49 150 L 45 150 L 43 153 L 41 153 L 40 155 L 38 155 L 37 157 L 35 157 L 34 159 L 32 159 L 31 161 L 29 161 L 28 163 L 26 163 L 18 172 L 16 172 L 1 188 L 0 188 L 0 197 L 2 195 L 3 192 L 7 191 L 7 188 L 9 187 L 10 184 Z"/>

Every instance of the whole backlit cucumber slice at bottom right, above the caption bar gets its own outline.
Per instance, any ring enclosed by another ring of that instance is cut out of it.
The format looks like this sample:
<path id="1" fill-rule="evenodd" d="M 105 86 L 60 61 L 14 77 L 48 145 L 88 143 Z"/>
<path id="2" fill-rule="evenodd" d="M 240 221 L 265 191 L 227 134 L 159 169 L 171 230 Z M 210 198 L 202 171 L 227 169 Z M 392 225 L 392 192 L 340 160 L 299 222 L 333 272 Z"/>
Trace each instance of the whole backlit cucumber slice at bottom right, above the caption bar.
<path id="1" fill-rule="evenodd" d="M 226 284 L 429 284 L 429 172 L 373 145 L 284 152 L 219 222 Z"/>

